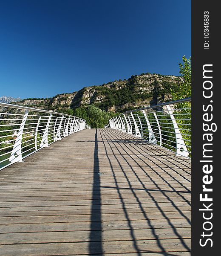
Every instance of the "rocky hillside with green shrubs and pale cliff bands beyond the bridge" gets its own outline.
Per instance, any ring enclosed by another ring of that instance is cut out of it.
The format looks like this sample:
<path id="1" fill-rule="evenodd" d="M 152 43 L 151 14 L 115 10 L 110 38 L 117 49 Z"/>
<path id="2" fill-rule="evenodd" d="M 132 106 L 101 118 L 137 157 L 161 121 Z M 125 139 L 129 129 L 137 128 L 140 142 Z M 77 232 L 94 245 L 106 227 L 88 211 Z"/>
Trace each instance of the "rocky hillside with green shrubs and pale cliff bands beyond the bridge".
<path id="1" fill-rule="evenodd" d="M 16 104 L 62 112 L 94 104 L 108 112 L 124 112 L 170 100 L 170 93 L 179 90 L 181 81 L 182 78 L 177 76 L 142 73 L 123 81 L 84 87 L 77 92 L 58 94 L 49 99 L 24 99 Z"/>

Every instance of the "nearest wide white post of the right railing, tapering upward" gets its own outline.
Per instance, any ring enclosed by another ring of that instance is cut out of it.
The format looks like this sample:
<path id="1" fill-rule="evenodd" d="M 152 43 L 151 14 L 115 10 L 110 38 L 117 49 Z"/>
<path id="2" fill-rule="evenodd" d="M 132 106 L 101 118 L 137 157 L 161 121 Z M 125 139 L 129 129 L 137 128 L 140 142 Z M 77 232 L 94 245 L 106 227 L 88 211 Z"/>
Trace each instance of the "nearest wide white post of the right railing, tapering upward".
<path id="1" fill-rule="evenodd" d="M 173 111 L 171 110 L 170 108 L 170 105 L 166 105 L 167 107 L 167 111 L 170 115 L 170 118 L 173 122 L 173 127 L 174 127 L 174 130 L 175 130 L 175 135 L 176 135 L 176 155 L 182 155 L 184 157 L 187 157 L 189 155 L 188 151 L 187 151 L 187 147 L 184 143 L 184 140 L 183 140 L 183 137 L 182 137 L 182 134 L 178 128 L 178 125 L 176 123 L 176 120 L 174 118 L 174 115 L 173 115 Z"/>

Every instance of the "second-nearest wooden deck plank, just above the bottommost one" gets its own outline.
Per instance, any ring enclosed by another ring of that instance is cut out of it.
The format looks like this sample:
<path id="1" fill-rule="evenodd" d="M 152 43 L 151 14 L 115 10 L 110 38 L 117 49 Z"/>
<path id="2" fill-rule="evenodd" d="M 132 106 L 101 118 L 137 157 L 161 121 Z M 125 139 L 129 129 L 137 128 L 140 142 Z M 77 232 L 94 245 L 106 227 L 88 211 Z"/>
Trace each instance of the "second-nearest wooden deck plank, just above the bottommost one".
<path id="1" fill-rule="evenodd" d="M 176 233 L 182 238 L 191 237 L 191 228 L 176 228 Z M 177 235 L 173 228 L 142 229 L 134 230 L 133 236 L 137 240 L 156 239 L 176 239 Z M 33 232 L 33 233 L 17 233 L 0 234 L 0 244 L 39 244 L 39 243 L 71 243 L 71 242 L 86 242 L 90 241 L 91 230 L 87 231 L 61 231 L 61 232 Z M 93 240 L 91 241 L 128 241 L 133 240 L 130 230 L 94 230 Z"/>

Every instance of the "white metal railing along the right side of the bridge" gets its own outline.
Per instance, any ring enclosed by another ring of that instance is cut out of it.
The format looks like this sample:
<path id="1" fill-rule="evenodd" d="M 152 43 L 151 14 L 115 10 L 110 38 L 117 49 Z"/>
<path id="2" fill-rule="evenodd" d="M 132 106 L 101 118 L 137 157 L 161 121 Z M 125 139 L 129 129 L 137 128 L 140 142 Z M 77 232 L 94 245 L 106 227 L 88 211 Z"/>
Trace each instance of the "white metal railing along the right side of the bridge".
<path id="1" fill-rule="evenodd" d="M 191 98 L 127 111 L 109 119 L 105 128 L 141 137 L 191 157 Z"/>

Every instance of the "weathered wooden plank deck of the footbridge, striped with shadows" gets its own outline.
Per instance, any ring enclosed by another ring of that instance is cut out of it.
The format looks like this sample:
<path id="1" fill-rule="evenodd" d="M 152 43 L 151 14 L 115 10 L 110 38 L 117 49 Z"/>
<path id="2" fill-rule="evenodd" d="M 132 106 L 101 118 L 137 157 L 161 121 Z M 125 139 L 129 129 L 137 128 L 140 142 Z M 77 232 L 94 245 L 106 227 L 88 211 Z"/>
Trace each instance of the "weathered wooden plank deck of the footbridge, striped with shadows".
<path id="1" fill-rule="evenodd" d="M 190 255 L 190 160 L 111 129 L 0 171 L 0 255 Z"/>

